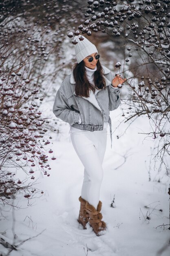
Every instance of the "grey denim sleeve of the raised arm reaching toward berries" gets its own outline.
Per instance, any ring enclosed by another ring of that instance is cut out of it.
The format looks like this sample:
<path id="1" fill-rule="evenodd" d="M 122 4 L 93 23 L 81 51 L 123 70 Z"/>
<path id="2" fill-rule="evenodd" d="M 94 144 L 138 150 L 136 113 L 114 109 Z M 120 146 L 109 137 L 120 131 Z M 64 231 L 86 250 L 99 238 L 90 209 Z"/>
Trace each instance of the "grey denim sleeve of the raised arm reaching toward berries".
<path id="1" fill-rule="evenodd" d="M 110 72 L 110 81 L 112 81 L 113 76 Z M 119 107 L 120 99 L 120 89 L 118 87 L 113 87 L 112 83 L 108 85 L 108 94 L 109 94 L 109 110 L 115 110 Z"/>

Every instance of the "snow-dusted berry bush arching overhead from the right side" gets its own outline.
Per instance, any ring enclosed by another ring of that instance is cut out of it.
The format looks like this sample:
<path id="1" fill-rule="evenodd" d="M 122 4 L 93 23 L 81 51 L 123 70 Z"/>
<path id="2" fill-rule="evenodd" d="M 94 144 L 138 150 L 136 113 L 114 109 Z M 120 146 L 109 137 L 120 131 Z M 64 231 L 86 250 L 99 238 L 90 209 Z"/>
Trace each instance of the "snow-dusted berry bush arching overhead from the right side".
<path id="1" fill-rule="evenodd" d="M 105 33 L 124 49 L 124 63 L 115 65 L 128 84 L 123 121 L 148 117 L 152 132 L 144 134 L 158 141 L 155 161 L 159 158 L 169 175 L 164 157 L 170 155 L 170 1 L 88 0 L 84 16 L 79 33 L 68 37 Z"/>

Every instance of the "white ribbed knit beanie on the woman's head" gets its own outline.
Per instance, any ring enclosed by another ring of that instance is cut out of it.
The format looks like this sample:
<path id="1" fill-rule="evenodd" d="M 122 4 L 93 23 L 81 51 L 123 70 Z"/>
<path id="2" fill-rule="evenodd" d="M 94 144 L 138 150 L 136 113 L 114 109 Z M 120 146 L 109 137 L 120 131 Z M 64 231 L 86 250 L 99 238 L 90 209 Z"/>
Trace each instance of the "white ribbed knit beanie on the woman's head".
<path id="1" fill-rule="evenodd" d="M 80 63 L 84 58 L 87 56 L 97 52 L 97 48 L 93 43 L 91 43 L 87 38 L 84 36 L 81 36 L 81 38 L 84 38 L 84 40 L 79 40 L 78 36 L 74 37 L 74 40 L 78 42 L 75 46 L 75 57 L 77 59 L 77 63 Z"/>

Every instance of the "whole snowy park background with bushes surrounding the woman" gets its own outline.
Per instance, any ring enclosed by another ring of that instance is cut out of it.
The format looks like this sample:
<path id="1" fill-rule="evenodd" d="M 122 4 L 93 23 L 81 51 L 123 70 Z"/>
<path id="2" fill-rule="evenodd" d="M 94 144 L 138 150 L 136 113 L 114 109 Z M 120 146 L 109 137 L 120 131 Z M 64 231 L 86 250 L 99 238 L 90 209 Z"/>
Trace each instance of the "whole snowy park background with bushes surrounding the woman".
<path id="1" fill-rule="evenodd" d="M 1 256 L 170 255 L 169 18 L 166 0 L 0 1 Z M 72 33 L 129 79 L 110 112 L 99 237 L 77 222 L 84 167 L 52 112 Z"/>

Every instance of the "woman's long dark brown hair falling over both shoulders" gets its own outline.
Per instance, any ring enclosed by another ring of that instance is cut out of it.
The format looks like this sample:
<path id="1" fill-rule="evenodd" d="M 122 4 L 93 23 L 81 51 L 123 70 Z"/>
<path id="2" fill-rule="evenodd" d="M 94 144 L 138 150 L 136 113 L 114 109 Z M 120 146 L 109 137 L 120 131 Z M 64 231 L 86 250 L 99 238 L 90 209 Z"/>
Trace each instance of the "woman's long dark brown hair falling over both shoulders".
<path id="1" fill-rule="evenodd" d="M 95 92 L 95 88 L 102 90 L 106 89 L 106 82 L 104 79 L 104 70 L 99 60 L 97 61 L 97 70 L 94 73 L 94 85 L 92 85 L 87 78 L 84 61 L 76 63 L 73 67 L 73 76 L 75 79 L 75 94 L 81 97 L 89 97 L 90 89 Z"/>

